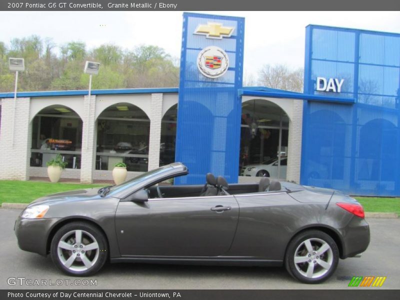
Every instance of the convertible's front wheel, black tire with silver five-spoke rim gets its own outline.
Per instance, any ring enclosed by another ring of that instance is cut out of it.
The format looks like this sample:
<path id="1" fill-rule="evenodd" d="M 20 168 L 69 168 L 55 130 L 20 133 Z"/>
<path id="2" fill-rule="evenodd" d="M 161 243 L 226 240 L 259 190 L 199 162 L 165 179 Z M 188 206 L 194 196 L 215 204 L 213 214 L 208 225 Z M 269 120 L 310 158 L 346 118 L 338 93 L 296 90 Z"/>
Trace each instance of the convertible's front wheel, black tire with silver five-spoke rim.
<path id="1" fill-rule="evenodd" d="M 77 243 L 78 232 L 81 242 Z M 95 225 L 83 221 L 70 222 L 55 232 L 50 253 L 54 264 L 64 273 L 88 276 L 96 273 L 107 260 L 107 241 Z"/>

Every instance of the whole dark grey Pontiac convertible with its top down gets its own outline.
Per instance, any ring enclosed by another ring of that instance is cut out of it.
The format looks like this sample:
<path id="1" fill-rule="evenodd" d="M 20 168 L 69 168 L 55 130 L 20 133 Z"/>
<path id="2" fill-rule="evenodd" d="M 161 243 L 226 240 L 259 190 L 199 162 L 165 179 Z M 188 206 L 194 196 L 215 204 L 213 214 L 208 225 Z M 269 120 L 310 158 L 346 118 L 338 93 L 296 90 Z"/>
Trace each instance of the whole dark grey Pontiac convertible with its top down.
<path id="1" fill-rule="evenodd" d="M 119 185 L 39 198 L 15 221 L 18 245 L 50 254 L 70 275 L 106 261 L 284 265 L 306 283 L 368 246 L 362 206 L 337 190 L 266 177 L 228 185 L 210 173 L 204 185 L 158 185 L 187 173 L 175 162 Z"/>

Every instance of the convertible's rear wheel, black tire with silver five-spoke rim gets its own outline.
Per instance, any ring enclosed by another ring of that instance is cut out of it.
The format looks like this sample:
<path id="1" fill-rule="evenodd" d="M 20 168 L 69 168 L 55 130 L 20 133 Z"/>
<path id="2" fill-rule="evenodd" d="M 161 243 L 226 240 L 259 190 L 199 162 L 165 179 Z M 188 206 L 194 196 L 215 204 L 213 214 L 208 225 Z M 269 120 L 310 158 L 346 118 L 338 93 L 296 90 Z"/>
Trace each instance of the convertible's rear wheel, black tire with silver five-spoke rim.
<path id="1" fill-rule="evenodd" d="M 307 250 L 310 246 L 311 253 Z M 320 253 L 319 249 L 323 252 Z M 297 263 L 294 262 L 294 256 L 297 257 Z M 287 272 L 304 283 L 326 280 L 335 271 L 338 261 L 339 250 L 335 241 L 319 230 L 307 230 L 294 236 L 284 257 Z"/>

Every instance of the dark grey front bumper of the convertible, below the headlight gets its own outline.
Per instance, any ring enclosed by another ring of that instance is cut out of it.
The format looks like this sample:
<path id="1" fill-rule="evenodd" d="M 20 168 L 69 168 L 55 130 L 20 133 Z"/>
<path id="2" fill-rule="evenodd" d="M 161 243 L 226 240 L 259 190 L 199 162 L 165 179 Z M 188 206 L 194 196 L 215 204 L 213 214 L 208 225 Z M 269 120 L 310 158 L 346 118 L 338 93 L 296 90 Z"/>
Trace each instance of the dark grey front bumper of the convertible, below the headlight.
<path id="1" fill-rule="evenodd" d="M 47 238 L 59 218 L 22 218 L 15 220 L 14 232 L 22 250 L 47 255 Z"/>

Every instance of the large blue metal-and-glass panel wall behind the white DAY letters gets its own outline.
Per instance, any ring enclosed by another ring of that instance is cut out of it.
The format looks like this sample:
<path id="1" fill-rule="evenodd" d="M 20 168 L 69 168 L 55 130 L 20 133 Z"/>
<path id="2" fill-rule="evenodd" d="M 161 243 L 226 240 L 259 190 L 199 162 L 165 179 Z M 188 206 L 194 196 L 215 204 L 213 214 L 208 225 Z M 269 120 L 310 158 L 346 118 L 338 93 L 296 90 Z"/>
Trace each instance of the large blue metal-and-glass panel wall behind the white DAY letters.
<path id="1" fill-rule="evenodd" d="M 400 34 L 310 25 L 304 69 L 304 91 L 333 101 L 304 105 L 300 182 L 400 195 Z M 316 76 L 347 84 L 340 94 L 316 91 Z"/>

